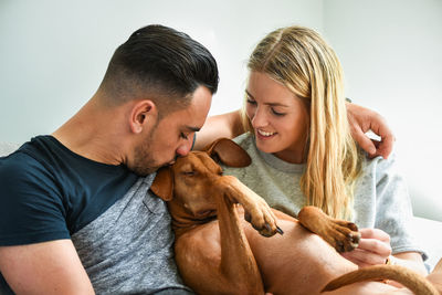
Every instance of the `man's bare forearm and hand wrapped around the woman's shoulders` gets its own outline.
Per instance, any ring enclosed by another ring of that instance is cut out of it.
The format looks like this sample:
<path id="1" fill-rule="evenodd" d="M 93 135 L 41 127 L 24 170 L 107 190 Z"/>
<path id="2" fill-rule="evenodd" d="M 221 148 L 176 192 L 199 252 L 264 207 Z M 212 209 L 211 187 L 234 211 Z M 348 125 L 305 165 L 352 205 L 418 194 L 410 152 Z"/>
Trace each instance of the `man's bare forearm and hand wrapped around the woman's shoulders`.
<path id="1" fill-rule="evenodd" d="M 387 159 L 394 144 L 394 135 L 388 127 L 386 119 L 369 108 L 351 103 L 346 105 L 352 138 L 370 157 L 382 156 Z M 368 130 L 380 136 L 381 140 L 371 140 L 366 135 Z M 242 133 L 244 133 L 244 129 L 241 125 L 240 110 L 209 117 L 202 129 L 197 134 L 194 149 L 202 149 L 218 138 L 234 138 Z"/>

